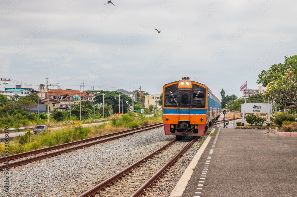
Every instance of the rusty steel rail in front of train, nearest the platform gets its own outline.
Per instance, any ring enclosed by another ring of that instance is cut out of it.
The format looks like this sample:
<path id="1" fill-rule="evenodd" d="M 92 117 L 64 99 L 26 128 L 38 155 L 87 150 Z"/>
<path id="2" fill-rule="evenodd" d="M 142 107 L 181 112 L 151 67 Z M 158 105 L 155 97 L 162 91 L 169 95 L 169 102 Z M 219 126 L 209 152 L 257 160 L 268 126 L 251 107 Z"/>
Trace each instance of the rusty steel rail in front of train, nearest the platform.
<path id="1" fill-rule="evenodd" d="M 152 188 L 155 183 L 157 183 L 160 178 L 162 178 L 165 174 L 167 174 L 167 171 L 169 166 L 173 166 L 177 160 L 182 157 L 184 152 L 186 152 L 190 146 L 194 144 L 194 142 L 199 138 L 200 136 L 196 137 L 192 141 L 190 141 L 187 146 L 185 146 L 180 152 L 178 152 L 172 159 L 170 159 L 159 171 L 156 172 L 149 180 L 147 180 L 138 190 L 136 190 L 130 197 L 139 197 L 142 195 L 146 195 L 144 191 L 149 191 L 148 188 Z"/>

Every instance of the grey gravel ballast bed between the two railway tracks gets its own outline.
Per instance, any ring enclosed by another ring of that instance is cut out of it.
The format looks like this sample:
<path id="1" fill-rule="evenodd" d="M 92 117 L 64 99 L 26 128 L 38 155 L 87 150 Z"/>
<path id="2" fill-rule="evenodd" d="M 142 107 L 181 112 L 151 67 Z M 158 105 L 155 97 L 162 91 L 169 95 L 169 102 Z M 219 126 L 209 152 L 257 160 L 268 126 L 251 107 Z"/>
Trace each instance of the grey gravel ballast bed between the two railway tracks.
<path id="1" fill-rule="evenodd" d="M 174 135 L 164 129 L 145 131 L 108 143 L 9 170 L 10 196 L 78 196 L 117 171 L 167 144 Z M 4 172 L 1 172 L 4 180 Z M 4 188 L 4 182 L 0 182 Z M 0 196 L 5 195 L 4 189 Z"/>

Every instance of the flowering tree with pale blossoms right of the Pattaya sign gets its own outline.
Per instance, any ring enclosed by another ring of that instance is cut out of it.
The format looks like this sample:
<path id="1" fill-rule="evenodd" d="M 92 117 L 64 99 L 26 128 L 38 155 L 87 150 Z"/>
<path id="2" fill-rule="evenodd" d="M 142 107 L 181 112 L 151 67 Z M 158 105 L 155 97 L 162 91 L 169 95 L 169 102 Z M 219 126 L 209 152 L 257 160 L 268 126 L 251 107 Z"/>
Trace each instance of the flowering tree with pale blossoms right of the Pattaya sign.
<path id="1" fill-rule="evenodd" d="M 269 82 L 263 97 L 297 109 L 296 70 L 286 69 L 282 78 Z"/>

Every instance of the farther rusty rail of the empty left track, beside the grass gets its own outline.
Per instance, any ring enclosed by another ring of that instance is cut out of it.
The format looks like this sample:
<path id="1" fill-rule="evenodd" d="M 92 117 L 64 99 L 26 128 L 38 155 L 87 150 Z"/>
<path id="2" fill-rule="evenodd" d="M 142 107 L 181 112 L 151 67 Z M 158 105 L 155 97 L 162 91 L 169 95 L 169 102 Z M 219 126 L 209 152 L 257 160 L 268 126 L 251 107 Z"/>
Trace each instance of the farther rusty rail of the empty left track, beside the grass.
<path id="1" fill-rule="evenodd" d="M 48 151 L 51 151 L 51 150 L 56 150 L 56 149 L 64 148 L 64 147 L 67 147 L 67 146 L 73 146 L 73 145 L 77 145 L 77 144 L 81 144 L 81 143 L 85 143 L 85 142 L 89 142 L 89 141 L 94 141 L 94 140 L 101 139 L 101 138 L 107 138 L 107 137 L 110 137 L 110 136 L 113 136 L 113 135 L 120 135 L 120 134 L 123 134 L 123 133 L 128 133 L 128 132 L 131 132 L 131 131 L 135 131 L 135 130 L 145 129 L 145 128 L 148 128 L 148 127 L 154 127 L 154 126 L 158 126 L 158 125 L 161 125 L 161 124 L 163 124 L 163 123 L 151 124 L 151 125 L 148 125 L 148 126 L 138 127 L 138 128 L 135 128 L 135 129 L 119 131 L 119 132 L 116 132 L 116 133 L 100 135 L 100 136 L 97 136 L 97 137 L 87 138 L 87 139 L 84 139 L 84 140 L 78 140 L 78 141 L 74 141 L 74 142 L 69 142 L 69 143 L 66 143 L 66 144 L 59 144 L 59 145 L 56 145 L 56 146 L 50 146 L 50 147 L 37 149 L 37 150 L 32 150 L 32 151 L 23 152 L 23 153 L 18 153 L 18 154 L 6 156 L 6 157 L 0 157 L 0 163 L 4 162 L 4 161 L 7 161 L 7 160 L 14 160 L 14 159 L 18 159 L 18 158 L 21 158 L 21 157 L 27 157 L 29 155 L 36 155 L 36 154 L 42 153 L 42 152 L 48 152 Z"/>

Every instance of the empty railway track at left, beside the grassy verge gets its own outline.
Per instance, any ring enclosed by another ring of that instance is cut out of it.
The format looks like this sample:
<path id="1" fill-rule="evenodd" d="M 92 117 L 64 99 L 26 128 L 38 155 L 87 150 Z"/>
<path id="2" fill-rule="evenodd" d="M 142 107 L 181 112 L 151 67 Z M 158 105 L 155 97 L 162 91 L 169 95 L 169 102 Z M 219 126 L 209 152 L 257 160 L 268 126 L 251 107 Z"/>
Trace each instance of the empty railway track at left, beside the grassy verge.
<path id="1" fill-rule="evenodd" d="M 56 145 L 56 146 L 50 146 L 50 147 L 43 148 L 43 149 L 33 150 L 33 151 L 19 153 L 19 154 L 15 154 L 15 155 L 10 155 L 7 157 L 0 157 L 0 162 L 10 161 L 10 163 L 8 165 L 9 168 L 22 166 L 22 165 L 26 165 L 28 163 L 32 163 L 32 162 L 35 162 L 38 160 L 61 155 L 62 153 L 67 153 L 67 152 L 82 149 L 82 148 L 85 148 L 88 146 L 92 146 L 95 144 L 112 141 L 115 139 L 123 138 L 123 137 L 129 136 L 129 135 L 140 133 L 140 132 L 143 132 L 146 130 L 159 128 L 162 126 L 163 126 L 163 123 L 157 123 L 157 124 L 148 125 L 148 126 L 144 126 L 144 127 L 138 127 L 135 129 L 129 129 L 129 130 L 111 133 L 111 134 L 107 134 L 107 135 L 101 135 L 101 136 L 97 136 L 94 138 L 88 138 L 88 139 L 84 139 L 84 140 L 80 140 L 80 141 L 75 141 L 75 142 L 60 144 L 60 145 Z M 69 146 L 71 146 L 71 147 L 69 147 Z M 46 152 L 50 152 L 50 153 L 46 153 Z M 42 153 L 45 153 L 45 154 L 42 154 Z M 39 154 L 39 155 L 35 156 L 37 154 Z M 23 159 L 23 157 L 29 157 L 29 158 Z M 20 159 L 20 160 L 18 160 L 18 159 Z M 12 160 L 17 160 L 17 161 L 12 161 Z M 7 167 L 6 164 L 1 165 L 0 171 L 3 171 L 6 167 Z"/>

